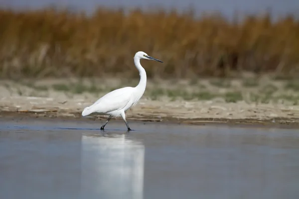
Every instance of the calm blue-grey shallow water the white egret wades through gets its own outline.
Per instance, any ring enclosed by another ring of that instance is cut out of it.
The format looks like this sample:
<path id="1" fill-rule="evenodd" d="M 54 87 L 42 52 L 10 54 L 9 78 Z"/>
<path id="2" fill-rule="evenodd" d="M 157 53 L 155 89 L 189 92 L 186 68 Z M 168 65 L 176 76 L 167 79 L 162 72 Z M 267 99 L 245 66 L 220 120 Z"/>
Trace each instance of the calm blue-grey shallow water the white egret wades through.
<path id="1" fill-rule="evenodd" d="M 0 199 L 298 199 L 298 129 L 0 120 Z"/>

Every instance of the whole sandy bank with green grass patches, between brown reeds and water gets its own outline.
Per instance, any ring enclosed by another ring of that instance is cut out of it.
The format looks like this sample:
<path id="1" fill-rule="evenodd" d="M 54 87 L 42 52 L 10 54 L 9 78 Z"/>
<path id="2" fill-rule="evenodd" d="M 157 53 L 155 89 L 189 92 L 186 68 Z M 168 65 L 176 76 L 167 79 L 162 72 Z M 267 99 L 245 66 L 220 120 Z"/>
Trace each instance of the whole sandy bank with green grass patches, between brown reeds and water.
<path id="1" fill-rule="evenodd" d="M 70 85 L 70 82 L 73 83 Z M 192 124 L 299 124 L 298 92 L 287 89 L 284 86 L 287 83 L 272 81 L 269 78 L 253 83 L 255 85 L 249 87 L 244 86 L 244 82 L 239 80 L 217 84 L 212 80 L 199 80 L 197 83 L 149 81 L 145 95 L 136 106 L 126 112 L 126 116 L 128 120 Z M 81 112 L 84 107 L 115 88 L 134 86 L 137 83 L 124 83 L 118 79 L 107 78 L 90 84 L 91 81 L 88 80 L 83 83 L 78 83 L 77 80 L 56 79 L 31 82 L 1 81 L 0 116 L 17 114 L 83 119 Z M 164 89 L 163 93 L 161 88 Z M 255 94 L 259 95 L 261 100 L 250 100 Z M 184 98 L 185 95 L 192 99 Z M 105 117 L 107 116 L 92 114 L 87 118 Z"/>

